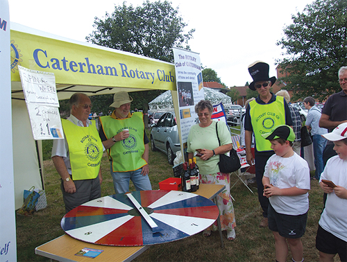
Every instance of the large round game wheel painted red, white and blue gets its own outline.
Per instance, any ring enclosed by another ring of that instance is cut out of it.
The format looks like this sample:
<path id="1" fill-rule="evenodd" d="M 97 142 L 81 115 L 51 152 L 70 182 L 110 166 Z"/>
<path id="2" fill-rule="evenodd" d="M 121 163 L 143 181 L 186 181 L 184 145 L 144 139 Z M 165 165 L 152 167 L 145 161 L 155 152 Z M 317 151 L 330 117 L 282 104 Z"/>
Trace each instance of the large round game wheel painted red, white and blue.
<path id="1" fill-rule="evenodd" d="M 152 232 L 125 194 L 108 195 L 72 209 L 62 218 L 62 229 L 73 238 L 99 245 L 154 245 L 192 236 L 218 218 L 218 207 L 201 195 L 162 190 L 132 195 L 160 232 Z"/>

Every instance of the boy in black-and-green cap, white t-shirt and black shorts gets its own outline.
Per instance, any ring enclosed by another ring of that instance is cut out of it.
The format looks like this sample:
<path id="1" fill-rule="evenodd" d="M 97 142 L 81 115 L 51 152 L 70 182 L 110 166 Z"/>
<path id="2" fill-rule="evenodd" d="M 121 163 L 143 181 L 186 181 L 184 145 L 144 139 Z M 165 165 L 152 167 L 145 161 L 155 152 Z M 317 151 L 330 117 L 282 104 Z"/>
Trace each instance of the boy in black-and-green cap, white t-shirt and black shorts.
<path id="1" fill-rule="evenodd" d="M 310 190 L 310 168 L 307 162 L 293 151 L 295 134 L 288 125 L 278 125 L 262 134 L 275 151 L 266 162 L 263 195 L 269 198 L 269 229 L 275 237 L 276 261 L 285 262 L 288 245 L 292 260 L 303 261 L 303 243 Z"/>

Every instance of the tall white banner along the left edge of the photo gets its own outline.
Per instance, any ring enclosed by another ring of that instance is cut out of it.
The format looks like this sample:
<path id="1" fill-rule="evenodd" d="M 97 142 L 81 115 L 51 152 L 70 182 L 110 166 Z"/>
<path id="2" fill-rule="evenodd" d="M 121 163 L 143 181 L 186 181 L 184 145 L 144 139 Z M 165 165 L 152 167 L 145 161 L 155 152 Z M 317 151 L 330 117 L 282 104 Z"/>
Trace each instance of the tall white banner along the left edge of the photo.
<path id="1" fill-rule="evenodd" d="M 0 261 L 17 261 L 15 183 L 13 175 L 10 67 L 10 13 L 8 0 L 0 0 Z M 20 138 L 16 138 L 20 139 Z M 25 143 L 25 141 L 24 141 Z"/>

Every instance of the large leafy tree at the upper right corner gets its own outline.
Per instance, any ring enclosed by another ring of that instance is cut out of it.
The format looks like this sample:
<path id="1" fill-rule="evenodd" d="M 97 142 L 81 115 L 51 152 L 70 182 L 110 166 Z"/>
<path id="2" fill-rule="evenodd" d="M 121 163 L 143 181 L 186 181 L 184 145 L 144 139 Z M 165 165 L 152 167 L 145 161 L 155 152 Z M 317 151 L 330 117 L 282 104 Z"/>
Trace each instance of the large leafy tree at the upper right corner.
<path id="1" fill-rule="evenodd" d="M 294 91 L 294 99 L 321 101 L 341 91 L 337 72 L 347 64 L 347 1 L 316 0 L 291 19 L 277 42 L 287 49 L 276 61 L 288 75 L 280 80 Z"/>

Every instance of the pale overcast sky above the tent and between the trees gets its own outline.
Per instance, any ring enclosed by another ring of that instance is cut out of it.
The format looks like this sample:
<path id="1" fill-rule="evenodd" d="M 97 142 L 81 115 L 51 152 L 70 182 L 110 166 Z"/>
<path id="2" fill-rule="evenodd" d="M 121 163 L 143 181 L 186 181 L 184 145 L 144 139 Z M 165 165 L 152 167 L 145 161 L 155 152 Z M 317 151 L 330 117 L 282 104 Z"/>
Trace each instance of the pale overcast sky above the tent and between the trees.
<path id="1" fill-rule="evenodd" d="M 150 0 L 153 1 L 153 0 Z M 10 21 L 73 40 L 86 42 L 92 33 L 94 17 L 113 12 L 122 0 L 8 0 Z M 128 0 L 133 6 L 142 0 Z M 284 26 L 292 24 L 291 15 L 303 12 L 312 0 L 193 1 L 172 0 L 180 15 L 195 28 L 189 41 L 192 51 L 200 53 L 203 67 L 217 72 L 228 87 L 252 82 L 248 65 L 255 60 L 270 64 L 270 77 L 276 76 L 275 60 L 282 49 L 276 42 Z"/>

